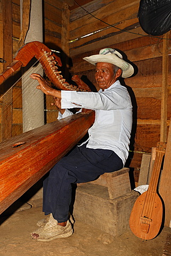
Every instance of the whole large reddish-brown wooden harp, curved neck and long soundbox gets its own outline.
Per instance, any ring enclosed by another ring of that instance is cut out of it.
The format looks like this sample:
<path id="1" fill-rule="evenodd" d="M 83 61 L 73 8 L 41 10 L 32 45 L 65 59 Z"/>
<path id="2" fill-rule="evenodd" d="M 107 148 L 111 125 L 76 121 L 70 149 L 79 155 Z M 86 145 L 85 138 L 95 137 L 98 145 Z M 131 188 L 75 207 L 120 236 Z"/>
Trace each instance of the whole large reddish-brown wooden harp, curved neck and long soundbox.
<path id="1" fill-rule="evenodd" d="M 67 83 L 58 70 L 62 66 L 60 58 L 40 42 L 28 43 L 18 50 L 14 61 L 0 75 L 0 84 L 15 70 L 27 66 L 33 57 L 59 89 L 91 91 L 78 76 L 72 77 L 78 86 Z M 93 122 L 94 111 L 82 111 L 0 143 L 0 214 L 50 171 L 84 137 Z"/>

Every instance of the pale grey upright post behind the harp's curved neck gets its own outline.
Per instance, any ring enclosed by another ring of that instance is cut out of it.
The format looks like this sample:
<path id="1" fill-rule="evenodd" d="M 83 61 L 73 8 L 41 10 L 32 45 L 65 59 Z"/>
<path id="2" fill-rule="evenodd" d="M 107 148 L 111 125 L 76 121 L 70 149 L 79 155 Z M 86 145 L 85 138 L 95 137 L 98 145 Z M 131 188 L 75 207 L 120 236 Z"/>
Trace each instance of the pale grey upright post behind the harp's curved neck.
<path id="1" fill-rule="evenodd" d="M 25 21 L 25 17 L 22 15 L 25 12 L 23 10 L 24 1 L 20 0 L 21 28 L 28 25 L 28 21 Z M 30 4 L 30 22 L 25 44 L 32 41 L 43 42 L 42 0 L 31 0 Z M 24 22 L 26 24 L 23 24 Z M 43 75 L 43 69 L 39 62 L 22 76 L 23 132 L 44 125 L 44 95 L 42 91 L 36 89 L 37 81 L 29 77 L 32 73 Z"/>

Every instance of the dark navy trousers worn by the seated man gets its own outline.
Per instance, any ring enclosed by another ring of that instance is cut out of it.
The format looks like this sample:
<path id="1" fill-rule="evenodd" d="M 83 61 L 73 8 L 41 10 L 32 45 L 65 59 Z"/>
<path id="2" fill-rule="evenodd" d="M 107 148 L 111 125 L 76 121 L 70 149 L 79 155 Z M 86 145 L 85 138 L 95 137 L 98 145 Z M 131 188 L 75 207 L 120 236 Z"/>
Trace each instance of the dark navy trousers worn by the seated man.
<path id="1" fill-rule="evenodd" d="M 112 150 L 76 147 L 51 169 L 43 184 L 43 211 L 52 213 L 58 222 L 68 220 L 72 183 L 95 180 L 105 172 L 123 168 L 120 157 Z"/>

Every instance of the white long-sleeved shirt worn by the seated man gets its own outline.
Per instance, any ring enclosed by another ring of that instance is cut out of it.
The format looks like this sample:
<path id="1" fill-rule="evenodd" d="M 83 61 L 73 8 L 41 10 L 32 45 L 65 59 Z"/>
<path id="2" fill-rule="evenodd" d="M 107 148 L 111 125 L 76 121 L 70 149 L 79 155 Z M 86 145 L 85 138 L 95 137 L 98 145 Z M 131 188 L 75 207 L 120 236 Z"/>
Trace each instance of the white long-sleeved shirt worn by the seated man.
<path id="1" fill-rule="evenodd" d="M 80 107 L 95 110 L 94 124 L 88 130 L 87 148 L 110 149 L 125 164 L 132 129 L 132 103 L 127 89 L 116 81 L 104 91 L 61 91 L 61 97 L 62 109 Z M 67 109 L 62 117 L 70 114 Z"/>

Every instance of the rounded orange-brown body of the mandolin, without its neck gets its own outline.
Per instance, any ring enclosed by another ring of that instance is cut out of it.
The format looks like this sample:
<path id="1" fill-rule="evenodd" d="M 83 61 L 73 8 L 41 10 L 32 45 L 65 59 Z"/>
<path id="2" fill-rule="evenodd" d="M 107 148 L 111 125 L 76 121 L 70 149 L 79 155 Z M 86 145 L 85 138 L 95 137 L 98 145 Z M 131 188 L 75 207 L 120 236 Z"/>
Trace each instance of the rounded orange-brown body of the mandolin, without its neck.
<path id="1" fill-rule="evenodd" d="M 145 191 L 133 206 L 129 227 L 135 236 L 152 239 L 160 231 L 162 223 L 162 202 L 157 193 Z"/>

